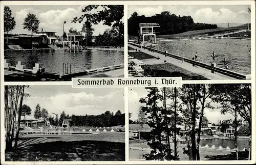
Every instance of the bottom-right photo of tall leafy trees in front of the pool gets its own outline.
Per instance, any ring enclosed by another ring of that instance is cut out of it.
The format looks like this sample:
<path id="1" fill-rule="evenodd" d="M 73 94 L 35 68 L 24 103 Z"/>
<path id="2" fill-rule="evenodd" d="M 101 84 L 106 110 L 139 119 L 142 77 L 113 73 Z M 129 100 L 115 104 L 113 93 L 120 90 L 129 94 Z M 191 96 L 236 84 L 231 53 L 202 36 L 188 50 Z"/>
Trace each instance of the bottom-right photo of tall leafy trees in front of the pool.
<path id="1" fill-rule="evenodd" d="M 250 84 L 129 88 L 129 160 L 251 160 Z"/>

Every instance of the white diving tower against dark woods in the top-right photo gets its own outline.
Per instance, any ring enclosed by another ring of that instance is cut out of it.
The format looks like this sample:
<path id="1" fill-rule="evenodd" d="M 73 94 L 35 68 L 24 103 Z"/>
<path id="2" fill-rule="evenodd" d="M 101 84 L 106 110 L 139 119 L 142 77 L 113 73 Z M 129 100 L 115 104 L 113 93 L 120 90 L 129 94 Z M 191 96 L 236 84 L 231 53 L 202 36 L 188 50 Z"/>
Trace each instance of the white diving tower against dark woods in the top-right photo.
<path id="1" fill-rule="evenodd" d="M 158 23 L 140 23 L 138 31 L 138 44 L 145 44 L 145 40 L 149 43 L 156 43 L 156 32 L 154 28 L 159 28 Z"/>

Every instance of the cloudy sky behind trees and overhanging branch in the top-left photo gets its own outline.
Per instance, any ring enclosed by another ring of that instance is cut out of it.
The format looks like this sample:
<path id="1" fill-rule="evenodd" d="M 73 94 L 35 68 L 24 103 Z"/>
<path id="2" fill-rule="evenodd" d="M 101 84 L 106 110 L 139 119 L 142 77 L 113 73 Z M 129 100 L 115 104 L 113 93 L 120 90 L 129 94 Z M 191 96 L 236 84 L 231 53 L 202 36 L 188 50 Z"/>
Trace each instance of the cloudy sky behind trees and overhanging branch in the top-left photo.
<path id="1" fill-rule="evenodd" d="M 63 33 L 63 21 L 67 21 L 64 28 L 68 32 L 71 27 L 78 31 L 82 28 L 82 23 L 71 23 L 74 17 L 82 15 L 82 9 L 86 5 L 81 6 L 9 6 L 12 10 L 12 16 L 16 21 L 15 29 L 11 33 L 15 34 L 31 34 L 31 32 L 23 29 L 23 21 L 28 13 L 33 13 L 40 21 L 38 31 L 44 29 L 44 31 L 56 32 L 56 35 L 61 36 Z M 99 7 L 97 10 L 92 10 L 90 13 L 96 13 L 102 9 Z M 93 25 L 93 35 L 97 36 L 102 34 L 106 29 L 110 29 L 110 26 L 103 25 L 100 22 L 97 25 Z"/>

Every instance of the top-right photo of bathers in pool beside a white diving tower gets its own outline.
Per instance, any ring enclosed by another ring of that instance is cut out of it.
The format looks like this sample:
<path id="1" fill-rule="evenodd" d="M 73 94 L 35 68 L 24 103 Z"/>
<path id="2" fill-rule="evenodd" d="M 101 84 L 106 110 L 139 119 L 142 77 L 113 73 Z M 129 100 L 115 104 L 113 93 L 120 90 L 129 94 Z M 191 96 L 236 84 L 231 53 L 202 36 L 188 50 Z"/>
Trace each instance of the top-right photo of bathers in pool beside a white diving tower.
<path id="1" fill-rule="evenodd" d="M 251 79 L 250 5 L 129 5 L 129 77 Z"/>

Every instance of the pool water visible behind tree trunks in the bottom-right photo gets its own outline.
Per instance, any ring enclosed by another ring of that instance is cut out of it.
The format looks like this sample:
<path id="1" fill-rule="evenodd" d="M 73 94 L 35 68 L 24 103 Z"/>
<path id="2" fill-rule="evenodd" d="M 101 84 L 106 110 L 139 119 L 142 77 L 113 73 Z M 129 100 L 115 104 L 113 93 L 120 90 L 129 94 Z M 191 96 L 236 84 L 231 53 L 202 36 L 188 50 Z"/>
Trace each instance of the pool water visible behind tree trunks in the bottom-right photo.
<path id="1" fill-rule="evenodd" d="M 200 145 L 205 146 L 206 144 L 211 147 L 212 145 L 215 145 L 215 147 L 222 146 L 223 148 L 226 148 L 229 146 L 231 149 L 234 149 L 234 140 L 232 139 L 210 139 L 210 140 L 201 140 Z M 242 150 L 246 148 L 249 149 L 249 140 L 248 139 L 238 139 L 238 149 Z"/>

